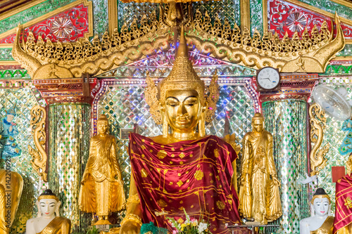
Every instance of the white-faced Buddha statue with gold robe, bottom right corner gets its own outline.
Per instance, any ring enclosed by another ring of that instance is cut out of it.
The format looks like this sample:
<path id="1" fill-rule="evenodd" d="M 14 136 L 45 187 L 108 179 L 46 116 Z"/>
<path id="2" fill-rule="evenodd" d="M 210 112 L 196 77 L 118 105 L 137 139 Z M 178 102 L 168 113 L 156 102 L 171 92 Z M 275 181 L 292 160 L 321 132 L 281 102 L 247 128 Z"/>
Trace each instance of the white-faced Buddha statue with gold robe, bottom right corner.
<path id="1" fill-rule="evenodd" d="M 310 205 L 315 214 L 299 222 L 301 234 L 332 234 L 334 216 L 329 216 L 331 201 L 324 188 L 318 188 Z"/>

